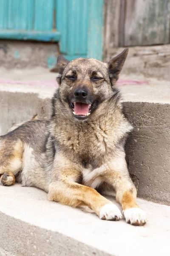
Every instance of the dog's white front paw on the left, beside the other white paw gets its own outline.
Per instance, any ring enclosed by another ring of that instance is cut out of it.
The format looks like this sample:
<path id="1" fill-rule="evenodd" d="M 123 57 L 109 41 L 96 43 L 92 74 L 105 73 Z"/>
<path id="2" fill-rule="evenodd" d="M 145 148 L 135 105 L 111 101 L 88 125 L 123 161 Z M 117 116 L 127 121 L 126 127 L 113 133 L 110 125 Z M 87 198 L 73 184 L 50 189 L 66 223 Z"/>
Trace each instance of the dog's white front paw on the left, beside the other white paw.
<path id="1" fill-rule="evenodd" d="M 119 221 L 122 218 L 122 213 L 114 204 L 105 204 L 100 210 L 99 217 L 102 220 Z"/>

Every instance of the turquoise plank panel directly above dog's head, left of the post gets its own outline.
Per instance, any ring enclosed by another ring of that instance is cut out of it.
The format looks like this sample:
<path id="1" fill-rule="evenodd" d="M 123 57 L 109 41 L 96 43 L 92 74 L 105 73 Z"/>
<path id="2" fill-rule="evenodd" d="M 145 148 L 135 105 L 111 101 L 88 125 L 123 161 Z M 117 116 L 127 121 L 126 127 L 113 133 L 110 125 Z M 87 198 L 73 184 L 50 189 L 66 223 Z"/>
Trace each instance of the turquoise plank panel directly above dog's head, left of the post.
<path id="1" fill-rule="evenodd" d="M 89 1 L 57 1 L 57 30 L 62 31 L 60 51 L 69 60 L 87 57 Z"/>

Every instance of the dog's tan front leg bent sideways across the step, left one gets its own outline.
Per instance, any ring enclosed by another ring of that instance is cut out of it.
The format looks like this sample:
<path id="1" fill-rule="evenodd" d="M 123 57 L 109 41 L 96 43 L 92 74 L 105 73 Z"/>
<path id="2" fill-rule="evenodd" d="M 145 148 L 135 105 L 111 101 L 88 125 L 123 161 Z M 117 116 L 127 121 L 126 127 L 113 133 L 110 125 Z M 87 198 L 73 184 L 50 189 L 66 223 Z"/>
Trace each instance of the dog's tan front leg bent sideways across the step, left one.
<path id="1" fill-rule="evenodd" d="M 57 163 L 59 164 L 59 163 Z M 53 181 L 49 185 L 48 199 L 57 201 L 71 207 L 88 206 L 96 212 L 101 219 L 117 221 L 122 214 L 116 205 L 100 195 L 95 189 L 81 185 L 79 180 L 81 172 L 71 166 L 71 163 L 62 167 L 53 175 Z"/>

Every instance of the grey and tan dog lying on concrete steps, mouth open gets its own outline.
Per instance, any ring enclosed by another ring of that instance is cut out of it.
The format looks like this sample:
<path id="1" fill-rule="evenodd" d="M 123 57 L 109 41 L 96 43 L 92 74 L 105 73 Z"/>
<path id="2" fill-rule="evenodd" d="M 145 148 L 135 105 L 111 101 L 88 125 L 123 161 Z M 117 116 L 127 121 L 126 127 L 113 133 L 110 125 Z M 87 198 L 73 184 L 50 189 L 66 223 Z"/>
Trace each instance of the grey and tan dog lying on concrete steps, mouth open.
<path id="1" fill-rule="evenodd" d="M 110 186 L 129 224 L 144 225 L 136 188 L 125 160 L 132 126 L 123 114 L 116 81 L 128 49 L 103 63 L 93 58 L 57 59 L 59 87 L 48 121 L 30 120 L 0 137 L 3 185 L 35 186 L 48 200 L 71 207 L 88 206 L 103 220 L 122 213 L 96 189 Z"/>

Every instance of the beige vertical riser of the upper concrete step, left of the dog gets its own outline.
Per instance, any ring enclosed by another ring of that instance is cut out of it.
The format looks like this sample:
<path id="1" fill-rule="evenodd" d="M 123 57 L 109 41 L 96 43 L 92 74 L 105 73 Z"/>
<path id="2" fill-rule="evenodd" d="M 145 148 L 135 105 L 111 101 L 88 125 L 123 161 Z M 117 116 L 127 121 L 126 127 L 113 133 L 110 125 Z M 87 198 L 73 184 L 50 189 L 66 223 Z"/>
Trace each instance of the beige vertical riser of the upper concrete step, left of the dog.
<path id="1" fill-rule="evenodd" d="M 0 91 L 0 135 L 13 125 L 31 118 L 47 119 L 50 99 L 41 99 L 36 93 Z"/>

